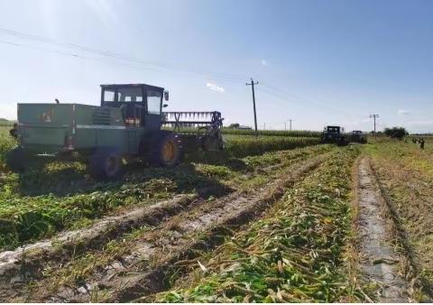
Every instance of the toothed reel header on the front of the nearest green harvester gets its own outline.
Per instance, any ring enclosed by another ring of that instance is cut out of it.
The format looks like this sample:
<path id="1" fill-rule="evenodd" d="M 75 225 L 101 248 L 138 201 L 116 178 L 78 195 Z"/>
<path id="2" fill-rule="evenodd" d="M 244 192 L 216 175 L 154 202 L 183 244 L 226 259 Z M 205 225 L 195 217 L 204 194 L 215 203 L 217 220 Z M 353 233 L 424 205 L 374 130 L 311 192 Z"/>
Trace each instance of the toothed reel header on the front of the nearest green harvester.
<path id="1" fill-rule="evenodd" d="M 221 151 L 224 118 L 218 111 L 172 111 L 162 114 L 162 125 L 180 135 L 185 152 Z"/>

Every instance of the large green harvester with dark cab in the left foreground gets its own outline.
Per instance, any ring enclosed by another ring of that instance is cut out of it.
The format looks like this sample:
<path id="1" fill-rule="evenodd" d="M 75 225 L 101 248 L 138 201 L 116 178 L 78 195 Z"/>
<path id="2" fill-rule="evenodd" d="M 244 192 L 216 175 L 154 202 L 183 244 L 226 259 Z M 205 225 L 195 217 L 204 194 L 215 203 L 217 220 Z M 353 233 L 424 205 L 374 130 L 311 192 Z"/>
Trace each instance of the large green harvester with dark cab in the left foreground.
<path id="1" fill-rule="evenodd" d="M 18 145 L 7 153 L 9 169 L 24 171 L 36 160 L 80 159 L 95 178 L 115 179 L 131 158 L 172 167 L 185 152 L 223 149 L 223 118 L 217 111 L 163 113 L 168 92 L 146 84 L 101 89 L 100 106 L 60 104 L 58 99 L 55 104 L 18 104 L 18 123 L 11 130 Z M 186 117 L 193 120 L 181 120 Z M 182 133 L 185 125 L 194 128 Z"/>

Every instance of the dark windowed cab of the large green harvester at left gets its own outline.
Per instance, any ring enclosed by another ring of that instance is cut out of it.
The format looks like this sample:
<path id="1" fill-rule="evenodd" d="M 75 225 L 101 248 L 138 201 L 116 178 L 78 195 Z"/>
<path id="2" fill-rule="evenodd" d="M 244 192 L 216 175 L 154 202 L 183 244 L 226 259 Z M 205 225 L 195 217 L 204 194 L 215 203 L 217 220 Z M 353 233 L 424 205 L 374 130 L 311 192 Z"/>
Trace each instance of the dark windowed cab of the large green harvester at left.
<path id="1" fill-rule="evenodd" d="M 162 97 L 164 88 L 146 84 L 101 85 L 101 106 L 120 108 L 126 126 L 160 129 Z"/>

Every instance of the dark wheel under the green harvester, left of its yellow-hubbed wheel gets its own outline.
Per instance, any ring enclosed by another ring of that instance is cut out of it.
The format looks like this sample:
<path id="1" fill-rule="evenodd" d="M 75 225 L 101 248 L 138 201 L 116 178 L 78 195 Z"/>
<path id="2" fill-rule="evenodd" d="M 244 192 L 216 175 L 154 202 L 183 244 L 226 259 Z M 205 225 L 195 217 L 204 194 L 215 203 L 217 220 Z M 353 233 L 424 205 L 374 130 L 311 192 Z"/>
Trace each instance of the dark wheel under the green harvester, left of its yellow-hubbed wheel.
<path id="1" fill-rule="evenodd" d="M 98 180 L 114 180 L 124 170 L 122 155 L 112 147 L 101 147 L 90 159 L 90 173 Z"/>

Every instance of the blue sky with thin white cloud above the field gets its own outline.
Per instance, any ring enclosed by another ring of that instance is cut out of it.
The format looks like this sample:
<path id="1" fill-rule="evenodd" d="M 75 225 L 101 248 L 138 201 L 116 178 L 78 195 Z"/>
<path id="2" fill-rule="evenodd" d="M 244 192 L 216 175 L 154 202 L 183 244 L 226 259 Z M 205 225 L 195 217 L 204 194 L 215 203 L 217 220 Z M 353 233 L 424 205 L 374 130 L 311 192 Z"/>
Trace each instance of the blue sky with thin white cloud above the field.
<path id="1" fill-rule="evenodd" d="M 0 117 L 17 102 L 98 104 L 99 84 L 170 90 L 226 125 L 433 131 L 433 2 L 0 0 Z M 289 125 L 288 125 L 289 126 Z"/>

